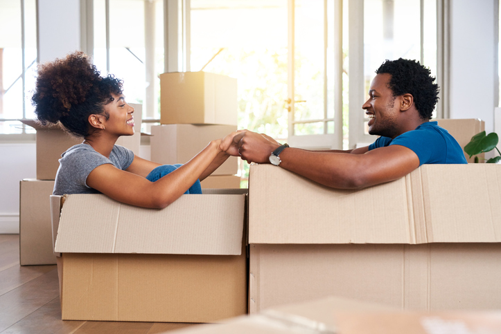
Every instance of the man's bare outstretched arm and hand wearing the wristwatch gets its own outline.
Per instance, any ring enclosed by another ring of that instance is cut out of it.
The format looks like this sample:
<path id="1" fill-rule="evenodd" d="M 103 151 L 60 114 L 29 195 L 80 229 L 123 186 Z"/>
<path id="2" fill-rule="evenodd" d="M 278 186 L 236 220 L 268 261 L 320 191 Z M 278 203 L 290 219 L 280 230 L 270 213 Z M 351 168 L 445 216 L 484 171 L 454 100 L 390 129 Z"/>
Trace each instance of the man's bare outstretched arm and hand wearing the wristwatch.
<path id="1" fill-rule="evenodd" d="M 268 157 L 276 147 L 278 145 L 258 133 L 247 132 L 240 140 L 240 155 L 249 162 L 269 163 Z M 290 147 L 280 154 L 280 167 L 340 189 L 357 189 L 396 180 L 419 167 L 414 151 L 400 145 L 372 151 L 367 147 L 357 150 L 357 154 L 346 154 Z"/>

